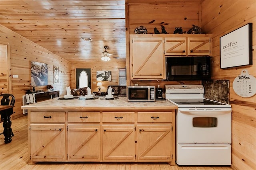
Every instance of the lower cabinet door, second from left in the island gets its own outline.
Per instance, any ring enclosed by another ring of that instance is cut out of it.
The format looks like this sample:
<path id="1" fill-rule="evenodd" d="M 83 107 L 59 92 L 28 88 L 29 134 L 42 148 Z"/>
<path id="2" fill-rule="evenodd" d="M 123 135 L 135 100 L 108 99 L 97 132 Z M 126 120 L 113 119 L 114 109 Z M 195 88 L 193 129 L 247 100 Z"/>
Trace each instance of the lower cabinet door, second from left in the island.
<path id="1" fill-rule="evenodd" d="M 68 124 L 68 160 L 100 161 L 100 125 Z"/>

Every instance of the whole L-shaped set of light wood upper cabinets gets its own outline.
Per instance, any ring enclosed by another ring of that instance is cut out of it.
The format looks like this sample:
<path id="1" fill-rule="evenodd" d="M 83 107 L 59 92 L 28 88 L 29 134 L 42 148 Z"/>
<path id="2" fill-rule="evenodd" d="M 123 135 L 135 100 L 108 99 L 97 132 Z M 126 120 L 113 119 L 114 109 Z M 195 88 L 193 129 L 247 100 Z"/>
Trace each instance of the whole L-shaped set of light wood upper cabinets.
<path id="1" fill-rule="evenodd" d="M 130 79 L 166 78 L 167 56 L 210 56 L 211 34 L 130 35 Z"/>

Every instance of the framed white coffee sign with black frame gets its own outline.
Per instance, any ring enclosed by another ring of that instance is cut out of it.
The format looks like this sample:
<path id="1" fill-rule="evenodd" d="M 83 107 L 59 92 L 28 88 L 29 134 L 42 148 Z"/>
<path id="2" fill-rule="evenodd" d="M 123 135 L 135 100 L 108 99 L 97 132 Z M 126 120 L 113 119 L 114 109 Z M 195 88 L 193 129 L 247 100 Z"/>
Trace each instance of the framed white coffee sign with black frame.
<path id="1" fill-rule="evenodd" d="M 252 23 L 220 37 L 220 68 L 252 65 Z"/>

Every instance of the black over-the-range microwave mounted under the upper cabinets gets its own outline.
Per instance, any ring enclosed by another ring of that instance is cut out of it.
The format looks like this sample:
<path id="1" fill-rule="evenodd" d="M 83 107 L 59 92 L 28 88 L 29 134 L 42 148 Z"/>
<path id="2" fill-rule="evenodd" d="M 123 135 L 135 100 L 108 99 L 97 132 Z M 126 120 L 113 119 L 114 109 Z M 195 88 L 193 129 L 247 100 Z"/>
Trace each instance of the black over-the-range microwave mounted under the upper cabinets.
<path id="1" fill-rule="evenodd" d="M 210 57 L 166 57 L 166 80 L 210 80 Z"/>

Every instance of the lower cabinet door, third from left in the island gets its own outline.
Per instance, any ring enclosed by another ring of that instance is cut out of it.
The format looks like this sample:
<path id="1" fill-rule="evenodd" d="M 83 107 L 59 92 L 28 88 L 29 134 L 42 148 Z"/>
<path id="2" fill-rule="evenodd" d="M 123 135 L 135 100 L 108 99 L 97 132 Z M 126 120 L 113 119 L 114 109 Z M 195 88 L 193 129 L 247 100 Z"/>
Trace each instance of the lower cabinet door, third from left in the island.
<path id="1" fill-rule="evenodd" d="M 134 125 L 102 125 L 103 162 L 134 162 Z"/>

